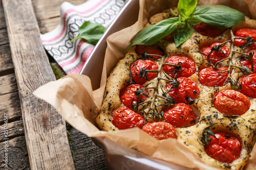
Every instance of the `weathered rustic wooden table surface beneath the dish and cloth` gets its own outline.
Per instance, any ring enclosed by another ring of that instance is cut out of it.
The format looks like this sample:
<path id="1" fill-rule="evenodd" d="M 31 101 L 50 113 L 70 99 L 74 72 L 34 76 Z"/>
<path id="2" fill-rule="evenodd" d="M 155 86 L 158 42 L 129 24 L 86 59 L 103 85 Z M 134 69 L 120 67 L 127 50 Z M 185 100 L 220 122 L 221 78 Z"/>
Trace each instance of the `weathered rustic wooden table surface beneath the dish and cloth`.
<path id="1" fill-rule="evenodd" d="M 32 94 L 55 80 L 39 32 L 56 28 L 65 1 L 85 2 L 0 0 L 1 169 L 106 169 L 104 150 L 72 127 L 68 140 L 65 120 Z"/>

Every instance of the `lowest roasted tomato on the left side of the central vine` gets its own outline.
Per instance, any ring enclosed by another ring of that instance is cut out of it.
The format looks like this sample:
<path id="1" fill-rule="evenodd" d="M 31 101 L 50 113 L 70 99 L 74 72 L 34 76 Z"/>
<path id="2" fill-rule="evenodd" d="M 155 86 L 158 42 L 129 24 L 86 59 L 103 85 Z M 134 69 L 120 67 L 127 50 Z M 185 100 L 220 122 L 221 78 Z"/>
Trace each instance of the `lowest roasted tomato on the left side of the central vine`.
<path id="1" fill-rule="evenodd" d="M 113 112 L 112 124 L 118 129 L 142 128 L 145 124 L 144 117 L 127 107 L 120 107 Z"/>

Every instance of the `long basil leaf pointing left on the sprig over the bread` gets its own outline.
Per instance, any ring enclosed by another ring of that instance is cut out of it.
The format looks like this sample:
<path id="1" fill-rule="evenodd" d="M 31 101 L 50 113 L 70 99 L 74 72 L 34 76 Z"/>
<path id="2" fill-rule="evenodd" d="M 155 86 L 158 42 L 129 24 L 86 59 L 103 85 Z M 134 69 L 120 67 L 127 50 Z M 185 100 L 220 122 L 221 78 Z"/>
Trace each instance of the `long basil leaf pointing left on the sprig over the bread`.
<path id="1" fill-rule="evenodd" d="M 136 44 L 153 45 L 157 43 L 178 28 L 180 24 L 178 21 L 178 17 L 168 18 L 141 30 L 132 41 L 130 47 Z"/>

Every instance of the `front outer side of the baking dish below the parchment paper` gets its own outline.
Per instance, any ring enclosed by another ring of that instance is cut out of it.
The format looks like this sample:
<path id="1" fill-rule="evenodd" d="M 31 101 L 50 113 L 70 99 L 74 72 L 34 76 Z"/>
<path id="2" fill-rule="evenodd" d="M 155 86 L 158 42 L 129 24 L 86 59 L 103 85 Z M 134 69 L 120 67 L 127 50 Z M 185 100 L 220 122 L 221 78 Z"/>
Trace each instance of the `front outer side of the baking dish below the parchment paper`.
<path id="1" fill-rule="evenodd" d="M 105 149 L 108 169 L 188 170 L 188 168 L 144 155 L 108 138 L 93 137 L 92 140 L 98 147 Z"/>

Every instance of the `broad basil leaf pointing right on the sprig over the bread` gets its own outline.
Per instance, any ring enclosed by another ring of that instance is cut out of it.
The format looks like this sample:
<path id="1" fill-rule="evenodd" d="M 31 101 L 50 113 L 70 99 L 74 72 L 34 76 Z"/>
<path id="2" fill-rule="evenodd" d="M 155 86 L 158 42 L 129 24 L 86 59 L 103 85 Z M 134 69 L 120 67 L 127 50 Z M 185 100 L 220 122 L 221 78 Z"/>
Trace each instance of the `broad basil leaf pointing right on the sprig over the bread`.
<path id="1" fill-rule="evenodd" d="M 243 13 L 223 5 L 197 6 L 193 17 L 216 28 L 231 27 L 245 20 Z"/>

